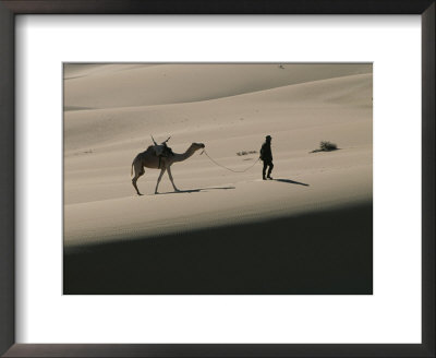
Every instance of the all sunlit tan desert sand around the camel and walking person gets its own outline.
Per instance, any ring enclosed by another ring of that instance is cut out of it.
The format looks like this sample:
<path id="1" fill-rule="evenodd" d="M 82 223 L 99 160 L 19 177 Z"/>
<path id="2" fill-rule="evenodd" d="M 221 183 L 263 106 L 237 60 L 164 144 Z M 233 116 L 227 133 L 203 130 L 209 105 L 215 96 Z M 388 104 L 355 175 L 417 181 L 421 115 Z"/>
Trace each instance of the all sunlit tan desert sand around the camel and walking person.
<path id="1" fill-rule="evenodd" d="M 65 64 L 64 252 L 370 207 L 372 91 L 361 63 Z M 267 134 L 275 180 L 264 181 Z M 146 168 L 138 196 L 131 165 L 150 135 L 171 135 L 177 153 L 204 143 L 246 171 L 198 151 L 172 166 L 181 192 L 166 174 L 155 194 L 159 170 Z M 320 141 L 339 150 L 311 153 Z"/>

